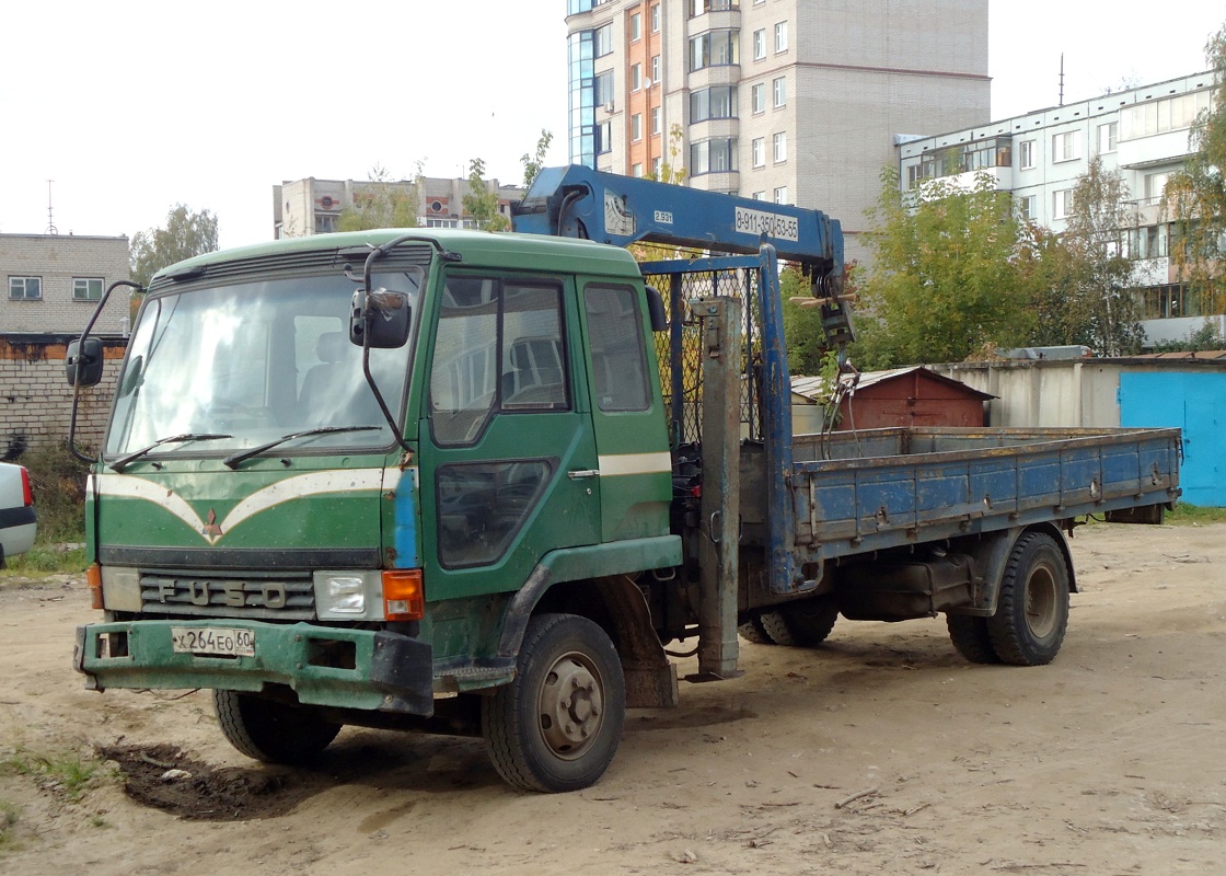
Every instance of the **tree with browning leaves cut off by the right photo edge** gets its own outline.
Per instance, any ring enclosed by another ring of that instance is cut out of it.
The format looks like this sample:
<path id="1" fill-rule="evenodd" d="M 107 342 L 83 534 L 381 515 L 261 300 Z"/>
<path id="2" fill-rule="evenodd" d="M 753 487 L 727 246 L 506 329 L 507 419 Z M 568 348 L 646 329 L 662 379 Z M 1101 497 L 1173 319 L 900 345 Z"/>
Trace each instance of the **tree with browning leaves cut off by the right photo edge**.
<path id="1" fill-rule="evenodd" d="M 1175 220 L 1171 260 L 1204 313 L 1226 310 L 1226 25 L 1205 44 L 1205 60 L 1214 70 L 1214 102 L 1192 129 L 1195 150 L 1184 167 L 1171 175 L 1162 195 Z"/>

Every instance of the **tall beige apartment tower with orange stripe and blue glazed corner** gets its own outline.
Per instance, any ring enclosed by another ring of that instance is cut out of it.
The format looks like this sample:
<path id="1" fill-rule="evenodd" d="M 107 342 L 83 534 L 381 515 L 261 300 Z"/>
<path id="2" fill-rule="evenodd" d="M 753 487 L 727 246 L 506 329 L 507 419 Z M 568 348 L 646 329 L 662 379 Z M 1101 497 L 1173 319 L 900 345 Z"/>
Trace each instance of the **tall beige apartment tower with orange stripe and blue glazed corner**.
<path id="1" fill-rule="evenodd" d="M 897 136 L 991 118 L 987 0 L 566 10 L 570 161 L 631 175 L 667 162 L 694 188 L 823 210 L 850 258 Z"/>

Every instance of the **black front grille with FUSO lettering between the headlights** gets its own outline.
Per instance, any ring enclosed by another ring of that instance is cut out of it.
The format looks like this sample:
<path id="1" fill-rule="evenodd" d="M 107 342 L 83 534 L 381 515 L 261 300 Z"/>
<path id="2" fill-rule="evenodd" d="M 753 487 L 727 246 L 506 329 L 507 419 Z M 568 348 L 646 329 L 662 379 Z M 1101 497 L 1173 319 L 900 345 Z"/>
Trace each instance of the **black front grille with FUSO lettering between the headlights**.
<path id="1" fill-rule="evenodd" d="M 315 588 L 300 572 L 142 574 L 141 606 L 146 615 L 310 621 Z"/>

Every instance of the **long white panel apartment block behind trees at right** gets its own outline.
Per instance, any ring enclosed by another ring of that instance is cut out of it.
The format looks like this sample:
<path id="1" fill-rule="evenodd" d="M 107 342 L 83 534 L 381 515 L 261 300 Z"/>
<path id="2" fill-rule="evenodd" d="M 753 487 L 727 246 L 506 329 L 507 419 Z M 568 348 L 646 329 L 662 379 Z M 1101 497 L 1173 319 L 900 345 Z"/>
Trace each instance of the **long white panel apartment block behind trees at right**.
<path id="1" fill-rule="evenodd" d="M 899 146 L 900 184 L 912 189 L 933 177 L 991 175 L 1013 193 L 1027 218 L 1064 231 L 1073 189 L 1092 156 L 1119 171 L 1128 186 L 1128 227 L 1122 244 L 1135 260 L 1143 288 L 1143 323 L 1150 342 L 1182 340 L 1208 313 L 1171 264 L 1172 223 L 1161 211 L 1162 190 L 1192 152 L 1190 128 L 1213 102 L 1214 74 L 1129 88 L 977 128 L 916 137 Z"/>

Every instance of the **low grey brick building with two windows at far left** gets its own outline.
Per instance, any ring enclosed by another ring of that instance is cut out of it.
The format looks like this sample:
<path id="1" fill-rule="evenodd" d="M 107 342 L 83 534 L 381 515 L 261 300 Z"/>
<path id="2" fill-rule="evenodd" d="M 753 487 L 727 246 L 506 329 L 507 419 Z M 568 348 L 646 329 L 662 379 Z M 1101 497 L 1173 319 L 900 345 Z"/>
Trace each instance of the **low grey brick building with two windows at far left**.
<path id="1" fill-rule="evenodd" d="M 0 332 L 80 334 L 102 293 L 128 280 L 126 237 L 0 234 Z M 128 290 L 112 294 L 96 331 L 128 334 Z"/>

